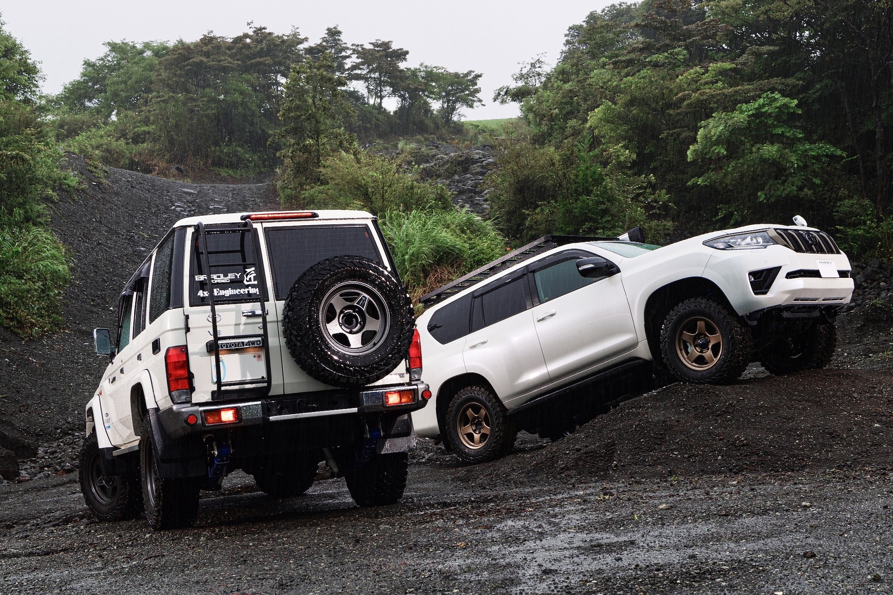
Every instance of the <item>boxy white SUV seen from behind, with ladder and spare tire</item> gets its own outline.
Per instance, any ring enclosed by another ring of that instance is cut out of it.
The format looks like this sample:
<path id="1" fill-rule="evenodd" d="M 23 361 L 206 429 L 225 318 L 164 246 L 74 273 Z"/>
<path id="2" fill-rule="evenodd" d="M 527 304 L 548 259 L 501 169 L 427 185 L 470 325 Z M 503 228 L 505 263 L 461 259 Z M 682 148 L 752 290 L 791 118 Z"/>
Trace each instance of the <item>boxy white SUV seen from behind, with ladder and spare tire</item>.
<path id="1" fill-rule="evenodd" d="M 321 460 L 360 506 L 399 500 L 409 413 L 430 397 L 376 219 L 285 211 L 180 220 L 121 293 L 88 402 L 80 486 L 100 519 L 195 522 L 234 469 L 274 497 Z"/>

